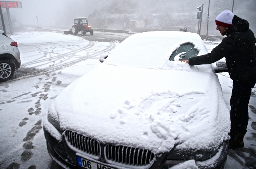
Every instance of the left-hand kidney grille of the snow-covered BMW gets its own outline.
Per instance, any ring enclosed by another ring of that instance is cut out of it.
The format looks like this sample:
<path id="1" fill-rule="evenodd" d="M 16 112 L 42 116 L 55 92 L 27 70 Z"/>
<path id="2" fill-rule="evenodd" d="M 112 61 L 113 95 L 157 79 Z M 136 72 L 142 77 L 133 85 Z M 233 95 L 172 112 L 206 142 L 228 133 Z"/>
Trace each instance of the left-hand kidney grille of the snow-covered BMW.
<path id="1" fill-rule="evenodd" d="M 67 141 L 76 149 L 100 157 L 100 143 L 92 138 L 66 130 Z"/>

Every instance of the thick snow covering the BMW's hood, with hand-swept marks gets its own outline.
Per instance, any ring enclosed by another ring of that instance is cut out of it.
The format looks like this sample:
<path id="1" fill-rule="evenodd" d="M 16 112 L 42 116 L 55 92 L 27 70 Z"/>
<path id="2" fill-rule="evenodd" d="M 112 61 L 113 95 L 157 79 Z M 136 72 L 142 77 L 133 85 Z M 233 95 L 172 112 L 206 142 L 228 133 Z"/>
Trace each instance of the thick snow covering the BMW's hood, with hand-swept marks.
<path id="1" fill-rule="evenodd" d="M 101 64 L 70 84 L 50 106 L 61 129 L 101 143 L 155 153 L 217 148 L 227 140 L 229 112 L 212 72 Z"/>

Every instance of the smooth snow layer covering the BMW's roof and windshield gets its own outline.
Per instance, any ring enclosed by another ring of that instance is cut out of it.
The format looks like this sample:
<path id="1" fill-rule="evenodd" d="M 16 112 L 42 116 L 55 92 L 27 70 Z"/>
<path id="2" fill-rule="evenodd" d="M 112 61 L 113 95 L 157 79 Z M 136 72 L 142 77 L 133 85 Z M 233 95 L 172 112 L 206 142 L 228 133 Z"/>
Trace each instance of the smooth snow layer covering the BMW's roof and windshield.
<path id="1" fill-rule="evenodd" d="M 208 53 L 196 33 L 178 31 L 152 31 L 137 33 L 125 39 L 104 61 L 105 64 L 140 68 L 170 68 L 166 65 L 172 52 L 185 43 L 192 43 L 198 55 Z"/>

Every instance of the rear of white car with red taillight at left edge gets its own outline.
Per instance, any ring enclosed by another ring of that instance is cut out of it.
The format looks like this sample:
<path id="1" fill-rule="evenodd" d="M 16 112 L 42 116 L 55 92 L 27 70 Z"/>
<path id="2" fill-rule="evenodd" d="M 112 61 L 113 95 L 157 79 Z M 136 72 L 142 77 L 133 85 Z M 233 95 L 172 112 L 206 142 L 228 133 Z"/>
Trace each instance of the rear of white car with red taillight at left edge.
<path id="1" fill-rule="evenodd" d="M 0 82 L 11 79 L 19 68 L 20 51 L 17 42 L 0 31 Z"/>

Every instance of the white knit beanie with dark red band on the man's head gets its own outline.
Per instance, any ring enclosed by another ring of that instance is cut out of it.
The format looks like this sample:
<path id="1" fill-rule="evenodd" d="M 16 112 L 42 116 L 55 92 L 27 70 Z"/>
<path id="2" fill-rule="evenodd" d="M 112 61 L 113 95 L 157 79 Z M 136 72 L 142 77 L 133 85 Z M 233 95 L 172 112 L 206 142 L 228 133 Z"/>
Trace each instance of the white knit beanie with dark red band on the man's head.
<path id="1" fill-rule="evenodd" d="M 215 24 L 218 26 L 230 28 L 233 18 L 234 13 L 232 13 L 230 10 L 225 10 L 216 17 Z"/>

